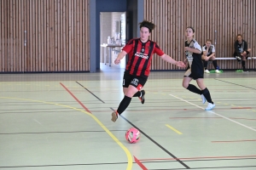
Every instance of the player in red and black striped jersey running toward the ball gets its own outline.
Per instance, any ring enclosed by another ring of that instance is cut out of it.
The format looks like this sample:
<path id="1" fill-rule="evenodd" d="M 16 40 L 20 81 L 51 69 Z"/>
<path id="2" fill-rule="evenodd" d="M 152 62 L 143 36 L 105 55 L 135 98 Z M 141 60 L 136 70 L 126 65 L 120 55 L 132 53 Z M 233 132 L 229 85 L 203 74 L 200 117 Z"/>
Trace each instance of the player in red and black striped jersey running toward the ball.
<path id="1" fill-rule="evenodd" d="M 142 89 L 148 80 L 153 54 L 158 54 L 161 59 L 173 65 L 179 67 L 186 66 L 183 64 L 183 61 L 172 59 L 172 57 L 160 49 L 156 42 L 148 39 L 151 31 L 154 30 L 154 23 L 143 20 L 143 22 L 139 23 L 139 26 L 140 37 L 131 39 L 122 49 L 121 53 L 118 54 L 117 59 L 114 60 L 114 64 L 118 65 L 120 60 L 128 54 L 128 63 L 125 67 L 123 77 L 123 92 L 125 97 L 120 102 L 117 111 L 113 111 L 112 113 L 111 120 L 113 122 L 116 122 L 118 116 L 130 105 L 132 97 L 141 99 L 142 104 L 145 102 L 145 91 Z"/>

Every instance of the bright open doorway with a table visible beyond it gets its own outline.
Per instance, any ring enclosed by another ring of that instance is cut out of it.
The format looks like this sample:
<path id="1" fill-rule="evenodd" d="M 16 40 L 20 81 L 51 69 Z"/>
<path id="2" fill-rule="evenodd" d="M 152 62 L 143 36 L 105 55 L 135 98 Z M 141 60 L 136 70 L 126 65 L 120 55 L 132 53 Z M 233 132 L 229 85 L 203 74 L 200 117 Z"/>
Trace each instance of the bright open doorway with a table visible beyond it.
<path id="1" fill-rule="evenodd" d="M 114 65 L 121 49 L 125 45 L 126 14 L 125 12 L 100 13 L 100 69 L 101 71 L 119 71 L 125 69 L 125 58 L 119 65 Z M 109 46 L 113 47 L 109 47 Z"/>

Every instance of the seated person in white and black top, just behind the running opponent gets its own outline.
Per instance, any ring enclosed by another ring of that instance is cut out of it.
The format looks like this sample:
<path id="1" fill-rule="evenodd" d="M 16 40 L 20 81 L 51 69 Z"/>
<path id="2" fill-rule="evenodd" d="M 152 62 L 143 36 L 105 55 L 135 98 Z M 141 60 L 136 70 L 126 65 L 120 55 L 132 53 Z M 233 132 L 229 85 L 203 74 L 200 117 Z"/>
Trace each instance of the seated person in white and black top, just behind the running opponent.
<path id="1" fill-rule="evenodd" d="M 207 40 L 206 44 L 203 45 L 202 52 L 201 59 L 203 59 L 204 62 L 205 72 L 210 73 L 207 69 L 208 61 L 210 60 L 215 68 L 215 72 L 220 73 L 220 71 L 218 71 L 217 60 L 215 60 L 215 48 L 214 45 L 212 45 L 212 40 Z"/>

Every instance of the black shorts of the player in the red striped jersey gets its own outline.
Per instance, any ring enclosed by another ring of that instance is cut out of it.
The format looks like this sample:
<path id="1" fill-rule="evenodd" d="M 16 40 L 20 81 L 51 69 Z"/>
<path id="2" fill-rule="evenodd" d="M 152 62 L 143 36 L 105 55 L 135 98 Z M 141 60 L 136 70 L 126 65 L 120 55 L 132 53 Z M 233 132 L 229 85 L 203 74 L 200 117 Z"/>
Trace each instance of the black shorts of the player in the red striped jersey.
<path id="1" fill-rule="evenodd" d="M 137 77 L 125 72 L 123 77 L 123 88 L 128 88 L 129 85 L 131 85 L 137 88 L 138 90 L 141 90 L 145 83 L 147 82 L 147 80 L 148 77 Z"/>

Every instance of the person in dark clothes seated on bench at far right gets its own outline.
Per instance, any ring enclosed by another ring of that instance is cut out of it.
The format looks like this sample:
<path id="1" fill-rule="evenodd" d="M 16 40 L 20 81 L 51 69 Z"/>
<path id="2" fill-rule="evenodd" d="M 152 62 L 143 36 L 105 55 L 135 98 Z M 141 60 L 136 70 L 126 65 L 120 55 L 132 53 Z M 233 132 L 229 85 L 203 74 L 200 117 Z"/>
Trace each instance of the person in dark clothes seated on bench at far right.
<path id="1" fill-rule="evenodd" d="M 241 62 L 242 70 L 246 71 L 245 61 L 248 58 L 248 54 L 250 54 L 251 49 L 247 47 L 247 42 L 244 41 L 241 37 L 241 34 L 236 36 L 235 42 L 235 53 L 234 57 Z"/>

